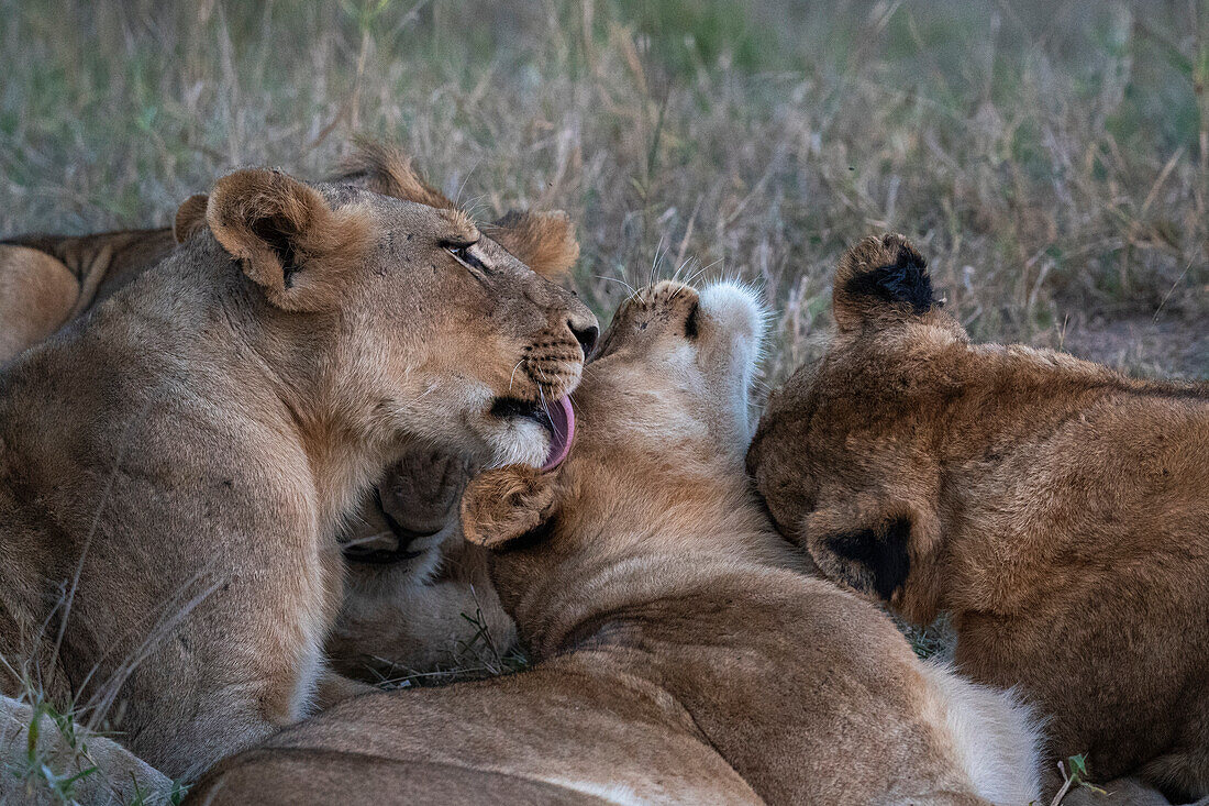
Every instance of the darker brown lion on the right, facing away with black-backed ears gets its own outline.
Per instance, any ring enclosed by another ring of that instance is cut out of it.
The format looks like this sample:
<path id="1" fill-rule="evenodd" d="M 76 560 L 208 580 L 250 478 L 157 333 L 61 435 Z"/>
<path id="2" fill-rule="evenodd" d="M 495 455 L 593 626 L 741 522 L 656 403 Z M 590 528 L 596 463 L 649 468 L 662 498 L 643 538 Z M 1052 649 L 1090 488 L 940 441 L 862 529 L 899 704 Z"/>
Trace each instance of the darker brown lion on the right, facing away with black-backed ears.
<path id="1" fill-rule="evenodd" d="M 1089 754 L 1209 794 L 1209 386 L 971 345 L 899 235 L 840 260 L 835 334 L 747 466 L 832 578 L 1040 704 L 1048 770 Z"/>

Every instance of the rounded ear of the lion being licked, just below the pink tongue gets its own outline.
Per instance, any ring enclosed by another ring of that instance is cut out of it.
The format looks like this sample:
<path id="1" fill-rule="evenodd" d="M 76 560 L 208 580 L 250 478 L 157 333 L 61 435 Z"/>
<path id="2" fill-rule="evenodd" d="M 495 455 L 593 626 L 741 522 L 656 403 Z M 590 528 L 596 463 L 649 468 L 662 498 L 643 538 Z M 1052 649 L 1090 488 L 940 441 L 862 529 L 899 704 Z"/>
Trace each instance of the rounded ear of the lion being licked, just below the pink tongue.
<path id="1" fill-rule="evenodd" d="M 462 494 L 462 532 L 487 548 L 533 534 L 554 514 L 554 474 L 525 465 L 485 471 Z"/>

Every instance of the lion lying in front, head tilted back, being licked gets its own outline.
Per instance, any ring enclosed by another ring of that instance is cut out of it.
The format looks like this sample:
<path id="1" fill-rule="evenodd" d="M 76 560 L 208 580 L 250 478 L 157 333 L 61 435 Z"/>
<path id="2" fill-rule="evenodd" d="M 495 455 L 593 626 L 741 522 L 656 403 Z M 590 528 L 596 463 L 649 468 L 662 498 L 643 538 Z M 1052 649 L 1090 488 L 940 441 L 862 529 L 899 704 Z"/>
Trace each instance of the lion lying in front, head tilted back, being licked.
<path id="1" fill-rule="evenodd" d="M 482 473 L 472 541 L 536 666 L 341 703 L 196 804 L 1025 804 L 1026 719 L 797 572 L 742 472 L 762 311 L 660 283 L 613 319 L 551 472 Z"/>

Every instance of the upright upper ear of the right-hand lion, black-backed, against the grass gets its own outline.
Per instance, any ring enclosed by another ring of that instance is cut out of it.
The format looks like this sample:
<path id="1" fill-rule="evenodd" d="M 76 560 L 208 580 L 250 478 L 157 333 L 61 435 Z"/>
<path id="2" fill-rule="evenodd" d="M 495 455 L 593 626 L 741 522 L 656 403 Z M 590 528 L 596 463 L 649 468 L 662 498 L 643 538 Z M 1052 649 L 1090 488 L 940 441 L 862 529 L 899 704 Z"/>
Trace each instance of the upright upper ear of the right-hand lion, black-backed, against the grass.
<path id="1" fill-rule="evenodd" d="M 890 324 L 920 317 L 938 305 L 927 261 L 902 235 L 867 237 L 844 253 L 832 294 L 840 330 L 866 322 Z"/>

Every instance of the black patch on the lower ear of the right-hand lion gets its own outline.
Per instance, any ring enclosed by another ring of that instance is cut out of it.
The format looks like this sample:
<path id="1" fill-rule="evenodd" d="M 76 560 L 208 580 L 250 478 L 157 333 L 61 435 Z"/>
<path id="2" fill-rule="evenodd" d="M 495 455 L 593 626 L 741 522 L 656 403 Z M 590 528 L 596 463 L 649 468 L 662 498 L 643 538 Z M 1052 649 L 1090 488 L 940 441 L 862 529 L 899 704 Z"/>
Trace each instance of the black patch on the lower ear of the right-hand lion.
<path id="1" fill-rule="evenodd" d="M 816 562 L 857 591 L 877 593 L 889 601 L 910 574 L 910 520 L 896 518 L 878 529 L 828 535 L 821 542 L 835 558 Z"/>

